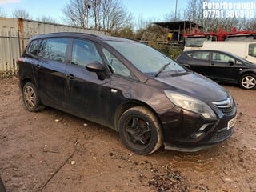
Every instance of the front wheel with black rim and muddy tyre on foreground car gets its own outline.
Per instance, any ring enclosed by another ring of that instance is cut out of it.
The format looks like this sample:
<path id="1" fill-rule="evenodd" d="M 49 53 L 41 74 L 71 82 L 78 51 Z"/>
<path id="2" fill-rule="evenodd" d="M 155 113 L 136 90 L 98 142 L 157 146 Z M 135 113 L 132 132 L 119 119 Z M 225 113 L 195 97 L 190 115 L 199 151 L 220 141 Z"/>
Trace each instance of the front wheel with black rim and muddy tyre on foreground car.
<path id="1" fill-rule="evenodd" d="M 162 127 L 146 107 L 126 110 L 119 119 L 118 129 L 123 144 L 135 154 L 152 154 L 162 146 Z"/>

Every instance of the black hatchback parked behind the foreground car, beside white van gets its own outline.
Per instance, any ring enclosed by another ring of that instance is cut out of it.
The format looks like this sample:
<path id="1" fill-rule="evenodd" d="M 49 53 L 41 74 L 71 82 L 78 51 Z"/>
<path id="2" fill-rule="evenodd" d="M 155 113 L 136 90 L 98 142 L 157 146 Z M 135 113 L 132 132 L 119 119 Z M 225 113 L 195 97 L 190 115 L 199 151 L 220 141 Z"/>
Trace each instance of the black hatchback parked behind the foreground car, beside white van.
<path id="1" fill-rule="evenodd" d="M 229 52 L 187 50 L 176 60 L 216 82 L 239 84 L 246 90 L 253 90 L 256 87 L 256 65 Z"/>

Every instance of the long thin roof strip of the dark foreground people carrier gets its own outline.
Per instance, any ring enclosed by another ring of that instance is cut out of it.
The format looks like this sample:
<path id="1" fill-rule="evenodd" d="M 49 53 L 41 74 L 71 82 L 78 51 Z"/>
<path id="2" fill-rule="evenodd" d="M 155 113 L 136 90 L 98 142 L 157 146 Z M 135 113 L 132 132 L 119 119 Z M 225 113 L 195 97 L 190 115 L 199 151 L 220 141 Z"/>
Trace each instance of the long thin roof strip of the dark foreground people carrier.
<path id="1" fill-rule="evenodd" d="M 68 37 L 68 38 L 90 38 L 94 40 L 102 40 L 102 41 L 115 41 L 115 42 L 136 42 L 134 40 L 130 40 L 128 38 L 118 38 L 107 36 L 103 34 L 86 34 L 80 32 L 58 32 L 58 33 L 50 33 L 50 34 L 39 34 L 30 38 L 31 40 L 38 38 L 60 38 L 60 37 Z"/>

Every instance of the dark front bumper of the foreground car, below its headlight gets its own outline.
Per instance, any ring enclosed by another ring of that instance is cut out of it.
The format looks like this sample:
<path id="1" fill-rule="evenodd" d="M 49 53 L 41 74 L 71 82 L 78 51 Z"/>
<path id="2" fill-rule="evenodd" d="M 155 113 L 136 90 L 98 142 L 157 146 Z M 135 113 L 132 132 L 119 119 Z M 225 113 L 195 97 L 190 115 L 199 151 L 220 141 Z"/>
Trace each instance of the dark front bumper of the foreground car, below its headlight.
<path id="1" fill-rule="evenodd" d="M 225 141 L 234 133 L 234 125 L 228 122 L 236 118 L 236 106 L 218 108 L 212 103 L 216 120 L 206 120 L 200 114 L 174 107 L 162 114 L 163 144 L 168 150 L 198 151 Z"/>

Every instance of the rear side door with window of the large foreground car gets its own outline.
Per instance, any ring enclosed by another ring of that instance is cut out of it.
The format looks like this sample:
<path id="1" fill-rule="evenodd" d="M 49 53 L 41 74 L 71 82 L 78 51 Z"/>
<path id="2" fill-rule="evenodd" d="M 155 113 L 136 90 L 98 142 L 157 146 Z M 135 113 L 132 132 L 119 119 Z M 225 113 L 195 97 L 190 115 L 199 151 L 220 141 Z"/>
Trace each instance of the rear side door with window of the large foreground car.
<path id="1" fill-rule="evenodd" d="M 37 63 L 33 66 L 42 103 L 57 109 L 62 109 L 65 102 L 65 57 L 68 42 L 68 38 L 42 39 Z"/>

